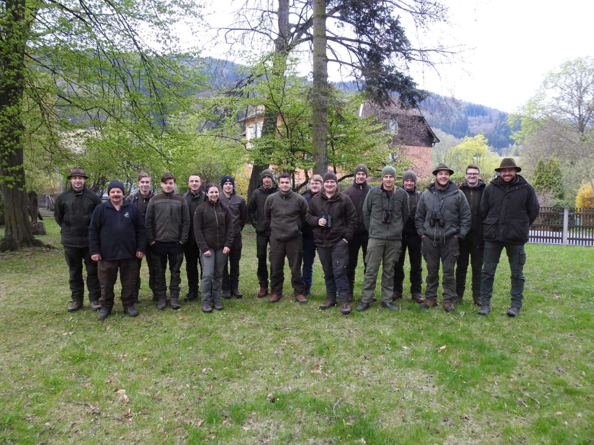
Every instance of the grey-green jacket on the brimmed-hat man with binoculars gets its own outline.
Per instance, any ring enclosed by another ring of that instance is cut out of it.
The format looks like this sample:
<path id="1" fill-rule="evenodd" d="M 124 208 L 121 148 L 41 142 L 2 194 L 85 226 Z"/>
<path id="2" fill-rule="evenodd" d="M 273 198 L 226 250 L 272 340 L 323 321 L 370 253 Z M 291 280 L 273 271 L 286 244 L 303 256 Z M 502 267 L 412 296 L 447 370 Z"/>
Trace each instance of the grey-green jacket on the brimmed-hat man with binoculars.
<path id="1" fill-rule="evenodd" d="M 437 222 L 431 227 L 431 215 L 443 215 L 443 227 Z M 450 181 L 445 190 L 438 190 L 435 183 L 429 184 L 416 205 L 416 232 L 434 240 L 445 240 L 456 235 L 463 239 L 470 230 L 470 206 L 466 196 Z"/>

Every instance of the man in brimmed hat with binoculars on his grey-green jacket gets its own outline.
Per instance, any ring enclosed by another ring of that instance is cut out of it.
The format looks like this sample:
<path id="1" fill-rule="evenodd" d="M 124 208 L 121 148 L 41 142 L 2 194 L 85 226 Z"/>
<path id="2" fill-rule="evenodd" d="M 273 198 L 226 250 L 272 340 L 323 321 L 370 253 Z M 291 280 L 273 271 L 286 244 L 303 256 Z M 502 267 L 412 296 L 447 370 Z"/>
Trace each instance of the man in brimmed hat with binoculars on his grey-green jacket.
<path id="1" fill-rule="evenodd" d="M 454 266 L 459 256 L 459 240 L 470 230 L 470 206 L 466 196 L 450 180 L 454 170 L 439 164 L 433 170 L 435 182 L 429 184 L 416 206 L 415 225 L 421 237 L 427 265 L 425 309 L 437 304 L 440 262 L 443 268 L 441 287 L 446 312 L 454 310 L 456 278 Z"/>

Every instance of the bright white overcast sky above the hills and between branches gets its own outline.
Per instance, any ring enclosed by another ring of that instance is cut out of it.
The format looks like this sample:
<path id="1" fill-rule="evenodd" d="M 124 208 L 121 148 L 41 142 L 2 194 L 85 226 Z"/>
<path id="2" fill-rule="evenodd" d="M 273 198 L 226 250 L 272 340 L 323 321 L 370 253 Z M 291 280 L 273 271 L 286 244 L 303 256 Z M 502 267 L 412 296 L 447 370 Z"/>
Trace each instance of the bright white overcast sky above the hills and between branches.
<path id="1" fill-rule="evenodd" d="M 219 0 L 207 21 L 226 26 L 241 2 Z M 447 65 L 415 69 L 411 74 L 426 90 L 483 104 L 506 112 L 533 96 L 544 75 L 567 59 L 594 56 L 594 1 L 565 0 L 450 0 L 450 25 L 421 36 L 430 45 L 438 40 L 461 45 L 462 52 Z M 407 30 L 411 40 L 413 29 Z M 203 55 L 224 57 L 224 45 Z M 311 68 L 310 68 L 311 69 Z M 328 66 L 336 78 L 335 65 Z"/>

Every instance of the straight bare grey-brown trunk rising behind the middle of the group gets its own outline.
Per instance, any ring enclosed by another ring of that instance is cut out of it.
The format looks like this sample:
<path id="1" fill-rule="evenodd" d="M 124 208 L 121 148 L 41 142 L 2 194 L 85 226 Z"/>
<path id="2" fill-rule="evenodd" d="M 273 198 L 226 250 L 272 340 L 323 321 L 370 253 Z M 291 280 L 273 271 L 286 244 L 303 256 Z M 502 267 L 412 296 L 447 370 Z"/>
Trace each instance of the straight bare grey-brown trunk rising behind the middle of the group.
<path id="1" fill-rule="evenodd" d="M 326 0 L 314 0 L 314 84 L 312 86 L 314 173 L 328 170 L 328 58 Z"/>

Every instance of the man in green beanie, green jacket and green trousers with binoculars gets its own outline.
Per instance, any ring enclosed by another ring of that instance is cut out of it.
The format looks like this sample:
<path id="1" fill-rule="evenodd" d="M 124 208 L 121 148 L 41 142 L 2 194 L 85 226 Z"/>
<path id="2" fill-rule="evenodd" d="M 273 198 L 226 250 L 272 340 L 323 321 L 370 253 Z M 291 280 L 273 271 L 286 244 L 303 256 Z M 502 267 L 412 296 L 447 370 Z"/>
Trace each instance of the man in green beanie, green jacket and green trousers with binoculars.
<path id="1" fill-rule="evenodd" d="M 363 202 L 363 222 L 369 233 L 365 258 L 365 279 L 358 311 L 369 309 L 375 291 L 377 273 L 381 273 L 381 306 L 397 310 L 392 303 L 394 293 L 394 263 L 400 254 L 403 221 L 408 218 L 406 192 L 395 185 L 396 170 L 386 166 L 381 170 L 381 186 L 367 193 Z"/>

